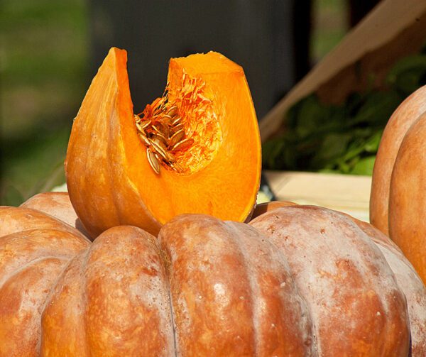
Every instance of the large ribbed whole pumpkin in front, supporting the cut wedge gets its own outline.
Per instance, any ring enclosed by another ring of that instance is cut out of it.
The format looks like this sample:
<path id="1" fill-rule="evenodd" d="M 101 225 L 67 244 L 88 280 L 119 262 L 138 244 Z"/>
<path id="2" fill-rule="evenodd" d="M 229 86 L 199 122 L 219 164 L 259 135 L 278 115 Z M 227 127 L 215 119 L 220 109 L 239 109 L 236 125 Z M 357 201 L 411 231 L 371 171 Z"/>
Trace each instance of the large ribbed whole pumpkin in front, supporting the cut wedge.
<path id="1" fill-rule="evenodd" d="M 425 356 L 425 312 L 399 249 L 329 209 L 182 214 L 91 243 L 0 208 L 0 356 L 408 356 L 410 331 Z"/>

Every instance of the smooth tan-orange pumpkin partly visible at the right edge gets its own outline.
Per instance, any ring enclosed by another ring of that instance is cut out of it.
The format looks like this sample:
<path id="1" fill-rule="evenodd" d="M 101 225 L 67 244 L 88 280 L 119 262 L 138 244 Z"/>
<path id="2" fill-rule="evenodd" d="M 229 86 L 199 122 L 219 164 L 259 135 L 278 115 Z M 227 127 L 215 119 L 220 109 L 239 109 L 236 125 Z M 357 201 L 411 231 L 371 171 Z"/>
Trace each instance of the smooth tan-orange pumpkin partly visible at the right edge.
<path id="1" fill-rule="evenodd" d="M 426 86 L 391 116 L 378 148 L 371 223 L 386 232 L 426 282 Z"/>

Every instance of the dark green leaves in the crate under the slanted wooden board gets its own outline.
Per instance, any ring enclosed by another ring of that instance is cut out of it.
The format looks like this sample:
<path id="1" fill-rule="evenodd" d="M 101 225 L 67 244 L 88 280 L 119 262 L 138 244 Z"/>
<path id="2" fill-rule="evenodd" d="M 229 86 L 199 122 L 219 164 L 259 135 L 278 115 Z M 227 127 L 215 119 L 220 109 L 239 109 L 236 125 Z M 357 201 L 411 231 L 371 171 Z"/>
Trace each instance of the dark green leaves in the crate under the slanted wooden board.
<path id="1" fill-rule="evenodd" d="M 263 167 L 371 175 L 383 129 L 398 105 L 426 84 L 426 55 L 398 61 L 386 89 L 349 95 L 342 105 L 323 104 L 315 94 L 293 105 L 285 133 L 263 145 Z"/>

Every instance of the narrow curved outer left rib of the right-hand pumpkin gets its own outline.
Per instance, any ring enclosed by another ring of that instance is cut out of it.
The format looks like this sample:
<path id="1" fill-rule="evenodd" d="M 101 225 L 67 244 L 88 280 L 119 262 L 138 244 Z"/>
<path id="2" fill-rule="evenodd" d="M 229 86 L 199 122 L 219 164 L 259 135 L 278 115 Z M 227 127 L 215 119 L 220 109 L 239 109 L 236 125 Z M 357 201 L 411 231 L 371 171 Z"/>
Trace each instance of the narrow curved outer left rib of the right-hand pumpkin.
<path id="1" fill-rule="evenodd" d="M 370 221 L 384 234 L 388 231 L 388 205 L 391 175 L 405 133 L 426 111 L 426 86 L 403 101 L 389 119 L 376 155 L 370 195 Z"/>

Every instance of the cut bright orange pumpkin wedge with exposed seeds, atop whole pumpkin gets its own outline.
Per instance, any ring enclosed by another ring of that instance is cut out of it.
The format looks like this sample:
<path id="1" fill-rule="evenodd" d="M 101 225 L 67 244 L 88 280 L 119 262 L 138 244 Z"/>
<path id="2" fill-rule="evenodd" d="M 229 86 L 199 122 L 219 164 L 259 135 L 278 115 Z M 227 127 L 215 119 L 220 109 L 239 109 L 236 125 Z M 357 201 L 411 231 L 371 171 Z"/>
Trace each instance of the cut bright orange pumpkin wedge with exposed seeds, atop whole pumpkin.
<path id="1" fill-rule="evenodd" d="M 92 237 L 122 224 L 155 235 L 183 213 L 244 221 L 261 141 L 243 69 L 214 52 L 172 58 L 165 94 L 137 115 L 126 51 L 111 48 L 73 123 L 65 172 Z"/>

